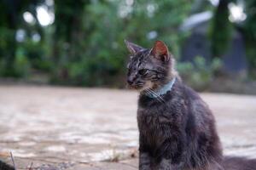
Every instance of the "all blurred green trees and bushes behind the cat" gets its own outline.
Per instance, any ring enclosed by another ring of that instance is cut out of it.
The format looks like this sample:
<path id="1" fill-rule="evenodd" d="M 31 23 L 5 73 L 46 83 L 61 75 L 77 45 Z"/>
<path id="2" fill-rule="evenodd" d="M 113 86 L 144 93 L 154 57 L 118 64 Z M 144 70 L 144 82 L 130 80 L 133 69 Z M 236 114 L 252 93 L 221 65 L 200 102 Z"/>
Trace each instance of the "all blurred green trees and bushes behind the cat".
<path id="1" fill-rule="evenodd" d="M 216 58 L 229 48 L 234 26 L 228 19 L 230 1 L 219 1 L 215 8 L 204 0 L 55 0 L 54 6 L 47 6 L 54 8 L 52 26 L 38 22 L 36 8 L 46 5 L 45 0 L 0 1 L 0 77 L 29 78 L 39 72 L 58 84 L 121 87 L 128 55 L 124 39 L 147 48 L 155 40 L 163 40 L 178 60 L 181 42 L 187 36 L 178 31 L 183 20 L 214 8 L 209 37 Z M 256 70 L 255 2 L 245 2 L 247 20 L 239 26 L 251 72 Z M 36 19 L 33 24 L 23 20 L 26 11 Z M 17 42 L 15 35 L 20 29 L 26 35 Z M 38 42 L 32 38 L 34 33 L 41 37 Z M 202 89 L 219 68 L 219 59 L 211 62 L 197 57 L 194 64 L 177 62 L 177 68 L 187 82 Z"/>

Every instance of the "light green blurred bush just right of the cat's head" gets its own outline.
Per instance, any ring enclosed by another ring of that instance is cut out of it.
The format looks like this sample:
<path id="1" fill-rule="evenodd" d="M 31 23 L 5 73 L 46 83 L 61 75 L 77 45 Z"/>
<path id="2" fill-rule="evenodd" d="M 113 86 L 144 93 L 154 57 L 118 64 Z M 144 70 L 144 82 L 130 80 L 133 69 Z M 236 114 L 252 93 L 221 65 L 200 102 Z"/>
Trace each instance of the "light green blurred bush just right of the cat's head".
<path id="1" fill-rule="evenodd" d="M 181 77 L 191 87 L 196 90 L 206 89 L 215 77 L 216 71 L 222 66 L 220 59 L 212 59 L 211 63 L 207 63 L 206 59 L 201 56 L 197 56 L 192 63 L 179 63 L 177 65 L 177 71 L 181 74 Z"/>

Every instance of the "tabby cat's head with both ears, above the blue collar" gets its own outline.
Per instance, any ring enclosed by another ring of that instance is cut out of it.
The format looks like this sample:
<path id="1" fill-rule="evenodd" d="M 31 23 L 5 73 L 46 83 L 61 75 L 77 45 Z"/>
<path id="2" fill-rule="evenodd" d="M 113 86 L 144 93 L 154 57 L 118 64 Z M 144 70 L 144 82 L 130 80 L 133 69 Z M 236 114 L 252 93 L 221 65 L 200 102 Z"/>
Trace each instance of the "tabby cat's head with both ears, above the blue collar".
<path id="1" fill-rule="evenodd" d="M 127 83 L 130 88 L 140 91 L 156 89 L 172 79 L 174 59 L 164 42 L 154 42 L 153 48 L 142 48 L 128 41 L 125 44 L 131 53 L 127 65 Z"/>

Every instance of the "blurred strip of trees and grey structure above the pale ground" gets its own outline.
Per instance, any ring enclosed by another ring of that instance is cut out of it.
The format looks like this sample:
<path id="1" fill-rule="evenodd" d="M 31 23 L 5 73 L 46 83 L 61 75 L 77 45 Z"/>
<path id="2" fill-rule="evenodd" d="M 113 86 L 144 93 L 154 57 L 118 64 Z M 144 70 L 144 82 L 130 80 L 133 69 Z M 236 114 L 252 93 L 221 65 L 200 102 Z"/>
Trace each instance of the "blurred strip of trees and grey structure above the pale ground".
<path id="1" fill-rule="evenodd" d="M 125 88 L 163 40 L 196 90 L 256 94 L 256 0 L 1 0 L 1 82 Z"/>

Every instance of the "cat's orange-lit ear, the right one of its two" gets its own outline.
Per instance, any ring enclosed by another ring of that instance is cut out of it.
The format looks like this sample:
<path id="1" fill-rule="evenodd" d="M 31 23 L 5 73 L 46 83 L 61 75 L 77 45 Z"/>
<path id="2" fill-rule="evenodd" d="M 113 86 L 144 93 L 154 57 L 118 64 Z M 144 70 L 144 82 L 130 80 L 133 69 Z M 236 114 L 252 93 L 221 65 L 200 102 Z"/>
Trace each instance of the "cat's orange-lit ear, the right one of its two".
<path id="1" fill-rule="evenodd" d="M 150 53 L 156 59 L 160 59 L 164 62 L 167 62 L 170 60 L 169 50 L 168 50 L 165 42 L 162 42 L 162 41 L 154 42 L 154 47 L 151 49 Z"/>

